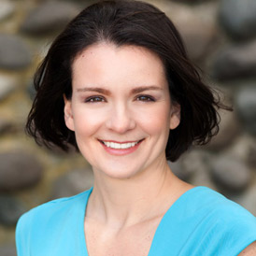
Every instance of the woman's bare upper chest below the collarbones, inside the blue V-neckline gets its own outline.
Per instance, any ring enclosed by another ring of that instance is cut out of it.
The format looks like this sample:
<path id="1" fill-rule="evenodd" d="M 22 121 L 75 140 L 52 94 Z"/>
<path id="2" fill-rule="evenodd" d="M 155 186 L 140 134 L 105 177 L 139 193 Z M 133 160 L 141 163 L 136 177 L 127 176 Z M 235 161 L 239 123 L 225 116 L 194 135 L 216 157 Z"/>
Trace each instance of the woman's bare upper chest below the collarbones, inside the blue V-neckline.
<path id="1" fill-rule="evenodd" d="M 147 256 L 161 218 L 146 221 L 120 232 L 93 221 L 85 221 L 89 256 Z"/>

